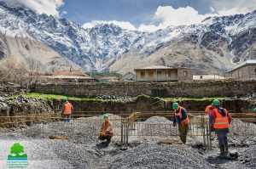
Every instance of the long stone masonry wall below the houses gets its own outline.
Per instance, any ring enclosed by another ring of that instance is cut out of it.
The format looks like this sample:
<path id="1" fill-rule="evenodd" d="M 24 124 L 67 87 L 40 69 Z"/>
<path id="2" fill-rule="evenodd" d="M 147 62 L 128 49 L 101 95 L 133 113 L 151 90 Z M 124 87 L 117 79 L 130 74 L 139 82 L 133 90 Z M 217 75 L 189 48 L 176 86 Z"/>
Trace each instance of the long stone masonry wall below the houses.
<path id="1" fill-rule="evenodd" d="M 38 84 L 32 90 L 36 93 L 59 93 L 86 98 L 102 94 L 151 95 L 153 90 L 166 91 L 166 96 L 169 97 L 230 97 L 255 93 L 256 81 Z"/>

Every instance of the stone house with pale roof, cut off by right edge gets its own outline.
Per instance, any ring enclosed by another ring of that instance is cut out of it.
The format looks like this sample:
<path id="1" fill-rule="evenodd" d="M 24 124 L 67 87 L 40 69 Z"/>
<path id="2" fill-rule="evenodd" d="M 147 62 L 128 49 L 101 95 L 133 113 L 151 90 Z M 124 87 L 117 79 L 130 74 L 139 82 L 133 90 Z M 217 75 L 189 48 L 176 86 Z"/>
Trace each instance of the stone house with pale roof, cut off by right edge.
<path id="1" fill-rule="evenodd" d="M 247 60 L 241 65 L 237 65 L 227 72 L 227 76 L 234 80 L 256 79 L 256 59 Z"/>

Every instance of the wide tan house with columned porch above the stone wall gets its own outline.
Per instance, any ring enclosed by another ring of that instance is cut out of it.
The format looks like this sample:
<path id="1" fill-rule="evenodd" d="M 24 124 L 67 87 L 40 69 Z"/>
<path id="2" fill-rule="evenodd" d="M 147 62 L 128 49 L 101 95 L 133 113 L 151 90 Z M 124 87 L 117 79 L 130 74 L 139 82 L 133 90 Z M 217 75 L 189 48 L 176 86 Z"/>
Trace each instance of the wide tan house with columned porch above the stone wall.
<path id="1" fill-rule="evenodd" d="M 181 82 L 193 81 L 193 69 L 166 67 L 163 65 L 135 69 L 136 82 Z"/>

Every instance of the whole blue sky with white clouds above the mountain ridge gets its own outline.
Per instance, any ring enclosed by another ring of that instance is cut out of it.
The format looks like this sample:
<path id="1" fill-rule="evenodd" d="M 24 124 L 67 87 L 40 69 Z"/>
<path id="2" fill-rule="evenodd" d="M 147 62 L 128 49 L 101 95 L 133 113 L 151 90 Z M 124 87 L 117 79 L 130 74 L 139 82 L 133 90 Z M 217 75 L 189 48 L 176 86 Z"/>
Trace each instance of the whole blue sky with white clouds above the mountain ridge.
<path id="1" fill-rule="evenodd" d="M 247 14 L 255 0 L 0 0 L 19 3 L 38 14 L 73 20 L 84 28 L 113 23 L 132 31 L 192 25 L 211 16 Z"/>

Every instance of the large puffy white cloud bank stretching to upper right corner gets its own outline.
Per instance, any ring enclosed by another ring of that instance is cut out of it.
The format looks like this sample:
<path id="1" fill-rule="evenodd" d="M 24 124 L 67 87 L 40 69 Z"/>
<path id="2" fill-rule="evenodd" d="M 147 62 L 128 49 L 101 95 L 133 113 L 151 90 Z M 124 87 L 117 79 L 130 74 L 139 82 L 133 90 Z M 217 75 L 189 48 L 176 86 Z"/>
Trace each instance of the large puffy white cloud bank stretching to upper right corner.
<path id="1" fill-rule="evenodd" d="M 191 7 L 186 8 L 172 8 L 172 6 L 158 7 L 154 13 L 153 22 L 158 21 L 159 25 L 144 25 L 141 24 L 138 27 L 138 31 L 157 31 L 159 29 L 165 29 L 170 25 L 192 25 L 201 23 L 207 17 L 213 16 L 224 16 L 224 15 L 234 15 L 234 14 L 247 14 L 252 12 L 256 8 L 256 3 L 254 0 L 216 0 L 212 1 L 211 7 L 209 8 L 209 13 L 198 14 L 198 12 Z M 224 7 L 227 8 L 219 8 Z"/>

